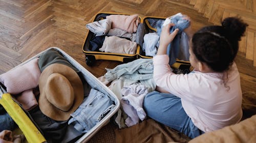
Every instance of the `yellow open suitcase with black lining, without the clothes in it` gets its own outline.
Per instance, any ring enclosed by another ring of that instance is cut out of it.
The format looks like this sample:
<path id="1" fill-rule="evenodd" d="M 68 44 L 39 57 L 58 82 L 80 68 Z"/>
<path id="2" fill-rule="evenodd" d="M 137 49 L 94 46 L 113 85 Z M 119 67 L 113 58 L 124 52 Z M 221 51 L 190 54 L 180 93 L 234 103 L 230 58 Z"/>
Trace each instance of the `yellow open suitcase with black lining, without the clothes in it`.
<path id="1" fill-rule="evenodd" d="M 97 13 L 95 17 L 93 18 L 93 21 L 99 21 L 102 19 L 105 19 L 108 15 L 129 15 L 129 14 L 123 14 L 123 13 L 113 13 L 113 12 L 102 12 Z M 148 21 L 153 21 L 153 24 L 156 24 L 158 20 L 165 20 L 164 17 L 156 17 L 156 16 L 146 16 L 140 18 L 140 24 L 138 25 L 139 32 L 136 33 L 136 43 L 137 43 L 137 51 L 135 54 L 120 54 L 120 53 L 110 53 L 110 52 L 100 52 L 100 51 L 91 51 L 90 50 L 90 40 L 92 40 L 95 37 L 95 34 L 91 31 L 89 31 L 86 35 L 86 38 L 83 43 L 82 51 L 86 55 L 86 64 L 88 66 L 93 65 L 93 63 L 96 60 L 112 60 L 112 61 L 120 61 L 123 63 L 131 62 L 139 58 L 143 59 L 150 59 L 153 58 L 152 56 L 146 56 L 145 52 L 142 50 L 143 47 L 143 37 L 145 34 L 157 32 L 156 27 L 152 26 L 152 23 Z M 193 67 L 191 67 L 189 61 L 183 61 L 183 60 L 176 60 L 176 63 L 172 65 L 173 68 L 176 69 L 188 69 L 190 71 L 193 70 Z"/>

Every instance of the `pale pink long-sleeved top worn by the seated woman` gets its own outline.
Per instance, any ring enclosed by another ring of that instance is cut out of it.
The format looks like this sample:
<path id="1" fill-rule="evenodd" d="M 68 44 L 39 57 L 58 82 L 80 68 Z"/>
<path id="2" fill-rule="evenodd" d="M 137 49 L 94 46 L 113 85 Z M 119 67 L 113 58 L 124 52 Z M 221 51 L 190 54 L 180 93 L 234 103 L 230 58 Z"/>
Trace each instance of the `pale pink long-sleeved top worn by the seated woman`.
<path id="1" fill-rule="evenodd" d="M 194 125 L 204 132 L 238 123 L 242 118 L 242 90 L 235 63 L 228 72 L 225 87 L 223 73 L 174 74 L 168 55 L 153 58 L 154 79 L 164 90 L 181 98 L 182 106 Z"/>

